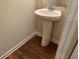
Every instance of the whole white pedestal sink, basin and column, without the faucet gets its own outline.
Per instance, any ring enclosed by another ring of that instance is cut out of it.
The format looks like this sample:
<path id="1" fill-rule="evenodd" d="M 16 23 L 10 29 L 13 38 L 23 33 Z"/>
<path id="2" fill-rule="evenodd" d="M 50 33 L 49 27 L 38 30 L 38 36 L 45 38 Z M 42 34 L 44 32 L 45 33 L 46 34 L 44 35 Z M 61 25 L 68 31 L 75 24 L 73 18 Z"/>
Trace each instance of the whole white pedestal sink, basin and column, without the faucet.
<path id="1" fill-rule="evenodd" d="M 61 18 L 62 13 L 59 10 L 52 10 L 50 12 L 47 8 L 42 8 L 35 10 L 35 14 L 40 16 L 43 20 L 43 36 L 41 45 L 45 47 L 51 40 L 52 23 L 58 21 Z"/>

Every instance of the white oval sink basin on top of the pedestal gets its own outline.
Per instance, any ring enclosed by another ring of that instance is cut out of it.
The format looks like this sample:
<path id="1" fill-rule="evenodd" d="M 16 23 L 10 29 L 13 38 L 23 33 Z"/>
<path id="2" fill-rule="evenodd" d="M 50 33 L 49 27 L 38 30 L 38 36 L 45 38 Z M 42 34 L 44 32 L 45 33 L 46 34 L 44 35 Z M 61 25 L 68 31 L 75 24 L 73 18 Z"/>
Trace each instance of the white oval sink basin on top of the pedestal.
<path id="1" fill-rule="evenodd" d="M 38 9 L 35 14 L 47 21 L 57 21 L 61 18 L 62 13 L 59 10 L 49 11 L 47 8 Z"/>

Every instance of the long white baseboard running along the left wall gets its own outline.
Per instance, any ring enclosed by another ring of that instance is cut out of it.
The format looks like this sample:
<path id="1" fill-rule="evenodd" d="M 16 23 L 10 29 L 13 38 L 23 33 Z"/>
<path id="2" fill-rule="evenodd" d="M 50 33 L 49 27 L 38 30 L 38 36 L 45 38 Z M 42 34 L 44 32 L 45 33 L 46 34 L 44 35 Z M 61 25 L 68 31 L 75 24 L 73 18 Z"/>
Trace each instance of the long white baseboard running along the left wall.
<path id="1" fill-rule="evenodd" d="M 3 54 L 0 59 L 5 59 L 6 57 L 8 57 L 10 54 L 12 54 L 14 51 L 16 51 L 18 48 L 20 48 L 22 45 L 24 45 L 26 42 L 28 42 L 32 37 L 34 37 L 36 35 L 36 31 L 33 32 L 30 36 L 28 36 L 27 38 L 25 38 L 23 41 L 21 41 L 19 44 L 17 44 L 16 46 L 14 46 L 13 48 L 11 48 L 9 51 L 7 51 L 5 54 Z"/>

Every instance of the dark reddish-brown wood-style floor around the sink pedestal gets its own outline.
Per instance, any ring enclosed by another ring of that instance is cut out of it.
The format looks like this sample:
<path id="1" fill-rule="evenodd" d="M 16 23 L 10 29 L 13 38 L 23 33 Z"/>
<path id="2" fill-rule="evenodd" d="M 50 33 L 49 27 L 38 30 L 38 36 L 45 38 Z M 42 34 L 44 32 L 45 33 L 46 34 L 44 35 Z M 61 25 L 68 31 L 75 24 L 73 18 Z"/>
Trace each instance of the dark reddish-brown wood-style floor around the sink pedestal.
<path id="1" fill-rule="evenodd" d="M 57 45 L 51 42 L 47 47 L 42 47 L 41 39 L 39 36 L 33 37 L 6 59 L 54 59 Z"/>

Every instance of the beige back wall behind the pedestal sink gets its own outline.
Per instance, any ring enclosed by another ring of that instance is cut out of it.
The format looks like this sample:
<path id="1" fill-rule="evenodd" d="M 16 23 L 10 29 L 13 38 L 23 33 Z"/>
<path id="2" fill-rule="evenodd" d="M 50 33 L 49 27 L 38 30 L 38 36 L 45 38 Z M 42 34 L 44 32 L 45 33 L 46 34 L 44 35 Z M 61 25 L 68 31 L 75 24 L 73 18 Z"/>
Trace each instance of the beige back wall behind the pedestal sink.
<path id="1" fill-rule="evenodd" d="M 41 8 L 41 3 L 39 2 L 41 0 L 37 0 L 37 9 Z M 58 41 L 60 39 L 64 24 L 65 24 L 65 16 L 66 16 L 66 9 L 63 8 L 58 8 L 59 10 L 62 11 L 63 16 L 61 20 L 54 22 L 54 28 L 52 31 L 52 38 L 55 39 L 55 41 Z M 36 17 L 36 29 L 38 32 L 42 33 L 43 32 L 43 22 L 40 20 L 38 16 Z"/>

